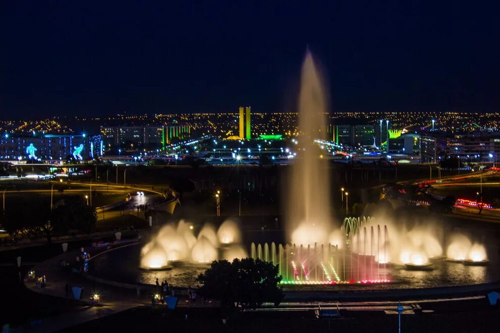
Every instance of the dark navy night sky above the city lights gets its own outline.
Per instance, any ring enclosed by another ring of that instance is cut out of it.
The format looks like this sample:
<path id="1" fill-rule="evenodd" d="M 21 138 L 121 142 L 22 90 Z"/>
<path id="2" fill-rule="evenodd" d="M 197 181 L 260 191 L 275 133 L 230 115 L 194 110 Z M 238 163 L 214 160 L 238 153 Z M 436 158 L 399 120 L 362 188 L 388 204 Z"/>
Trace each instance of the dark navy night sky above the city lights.
<path id="1" fill-rule="evenodd" d="M 0 117 L 295 110 L 307 45 L 331 109 L 500 109 L 498 1 L 192 3 L 1 1 Z"/>

